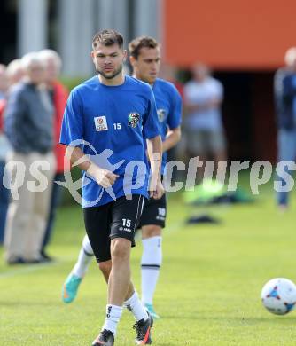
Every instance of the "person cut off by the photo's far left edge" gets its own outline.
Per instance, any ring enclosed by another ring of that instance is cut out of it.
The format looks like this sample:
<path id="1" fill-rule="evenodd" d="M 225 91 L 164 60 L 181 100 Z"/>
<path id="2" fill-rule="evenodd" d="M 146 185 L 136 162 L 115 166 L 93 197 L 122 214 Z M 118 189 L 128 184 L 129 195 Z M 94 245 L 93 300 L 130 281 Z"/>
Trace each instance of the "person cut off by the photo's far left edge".
<path id="1" fill-rule="evenodd" d="M 4 67 L 4 65 L 0 65 L 0 244 L 2 244 L 4 240 L 4 227 L 9 202 L 9 191 L 3 185 L 6 155 L 9 150 L 7 138 L 3 133 L 3 117 L 4 108 L 6 105 L 7 89 L 8 80 L 6 67 Z"/>

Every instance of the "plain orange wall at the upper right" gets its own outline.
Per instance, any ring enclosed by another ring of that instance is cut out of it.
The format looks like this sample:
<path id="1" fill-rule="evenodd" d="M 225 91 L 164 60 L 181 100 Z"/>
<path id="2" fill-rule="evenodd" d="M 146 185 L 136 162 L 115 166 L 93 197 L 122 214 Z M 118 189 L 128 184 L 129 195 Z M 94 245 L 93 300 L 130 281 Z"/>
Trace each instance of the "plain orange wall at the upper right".
<path id="1" fill-rule="evenodd" d="M 164 0 L 165 57 L 179 66 L 276 68 L 296 45 L 295 12 L 295 0 Z"/>

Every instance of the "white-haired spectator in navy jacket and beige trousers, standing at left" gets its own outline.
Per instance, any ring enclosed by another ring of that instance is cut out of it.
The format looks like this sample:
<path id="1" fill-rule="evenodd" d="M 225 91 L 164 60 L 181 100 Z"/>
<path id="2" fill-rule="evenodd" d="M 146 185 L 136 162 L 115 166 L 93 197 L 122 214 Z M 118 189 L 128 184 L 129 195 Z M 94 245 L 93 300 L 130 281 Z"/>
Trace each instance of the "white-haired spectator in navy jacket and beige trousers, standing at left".
<path id="1" fill-rule="evenodd" d="M 44 261 L 40 251 L 55 172 L 53 108 L 42 88 L 43 62 L 32 52 L 21 59 L 21 65 L 24 81 L 12 89 L 4 114 L 4 129 L 12 145 L 10 159 L 23 166 L 12 169 L 12 202 L 4 234 L 5 257 L 10 264 Z"/>

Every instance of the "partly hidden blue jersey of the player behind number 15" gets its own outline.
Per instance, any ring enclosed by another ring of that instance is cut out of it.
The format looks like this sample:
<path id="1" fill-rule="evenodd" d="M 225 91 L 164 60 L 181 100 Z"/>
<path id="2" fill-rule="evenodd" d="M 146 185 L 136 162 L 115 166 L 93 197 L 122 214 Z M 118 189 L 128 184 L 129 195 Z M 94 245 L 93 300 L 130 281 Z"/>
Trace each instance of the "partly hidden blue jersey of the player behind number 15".
<path id="1" fill-rule="evenodd" d="M 160 122 L 160 136 L 166 139 L 167 130 L 174 130 L 182 121 L 182 98 L 173 83 L 157 78 L 152 86 L 155 97 L 158 118 Z M 167 153 L 162 155 L 161 174 L 167 163 Z"/>

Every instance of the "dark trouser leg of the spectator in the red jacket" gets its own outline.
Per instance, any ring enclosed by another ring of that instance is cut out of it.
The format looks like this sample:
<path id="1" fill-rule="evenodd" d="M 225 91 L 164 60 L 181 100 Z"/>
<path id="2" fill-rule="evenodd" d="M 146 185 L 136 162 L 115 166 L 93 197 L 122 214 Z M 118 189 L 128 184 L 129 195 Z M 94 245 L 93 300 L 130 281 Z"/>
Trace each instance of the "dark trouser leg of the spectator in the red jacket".
<path id="1" fill-rule="evenodd" d="M 53 230 L 56 216 L 57 216 L 57 209 L 63 196 L 63 187 L 55 183 L 56 181 L 65 181 L 64 173 L 56 173 L 53 179 L 50 211 L 49 211 L 48 221 L 46 224 L 45 233 L 43 237 L 43 246 L 41 249 L 41 255 L 49 261 L 51 261 L 51 256 L 48 256 L 46 252 L 46 247 L 48 246 L 51 240 L 52 230 Z"/>

